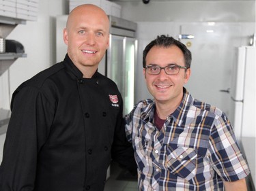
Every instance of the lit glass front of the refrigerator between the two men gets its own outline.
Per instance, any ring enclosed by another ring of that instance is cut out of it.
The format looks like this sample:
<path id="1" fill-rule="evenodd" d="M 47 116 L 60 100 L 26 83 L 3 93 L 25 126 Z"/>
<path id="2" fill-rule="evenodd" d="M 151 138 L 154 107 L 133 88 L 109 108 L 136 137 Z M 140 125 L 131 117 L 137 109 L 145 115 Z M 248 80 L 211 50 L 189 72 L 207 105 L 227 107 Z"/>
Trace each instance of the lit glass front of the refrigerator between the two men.
<path id="1" fill-rule="evenodd" d="M 111 78 L 122 94 L 124 115 L 134 106 L 134 64 L 137 50 L 135 39 L 111 35 L 107 61 L 107 77 Z"/>

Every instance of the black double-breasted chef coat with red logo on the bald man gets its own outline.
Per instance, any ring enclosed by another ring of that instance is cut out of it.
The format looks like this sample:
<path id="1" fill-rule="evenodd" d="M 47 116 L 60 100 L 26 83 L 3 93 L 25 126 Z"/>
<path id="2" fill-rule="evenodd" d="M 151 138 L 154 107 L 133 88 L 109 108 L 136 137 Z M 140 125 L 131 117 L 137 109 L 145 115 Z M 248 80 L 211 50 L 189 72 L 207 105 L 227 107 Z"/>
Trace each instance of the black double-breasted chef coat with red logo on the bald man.
<path id="1" fill-rule="evenodd" d="M 1 191 L 104 190 L 111 146 L 133 155 L 122 145 L 122 97 L 116 84 L 98 72 L 83 78 L 68 55 L 21 84 L 11 108 Z"/>

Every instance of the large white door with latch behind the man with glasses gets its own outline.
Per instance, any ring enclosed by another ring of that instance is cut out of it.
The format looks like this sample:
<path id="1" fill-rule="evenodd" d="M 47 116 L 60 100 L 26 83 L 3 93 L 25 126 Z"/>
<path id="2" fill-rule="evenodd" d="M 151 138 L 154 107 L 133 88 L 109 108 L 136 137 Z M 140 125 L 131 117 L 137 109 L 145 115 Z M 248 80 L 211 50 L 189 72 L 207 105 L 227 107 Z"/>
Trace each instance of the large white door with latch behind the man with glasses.
<path id="1" fill-rule="evenodd" d="M 193 35 L 193 39 L 180 39 L 192 52 L 191 77 L 186 88 L 201 101 L 210 103 L 228 115 L 231 68 L 235 60 L 235 47 L 240 46 L 239 24 L 207 22 L 183 24 L 180 34 Z"/>

